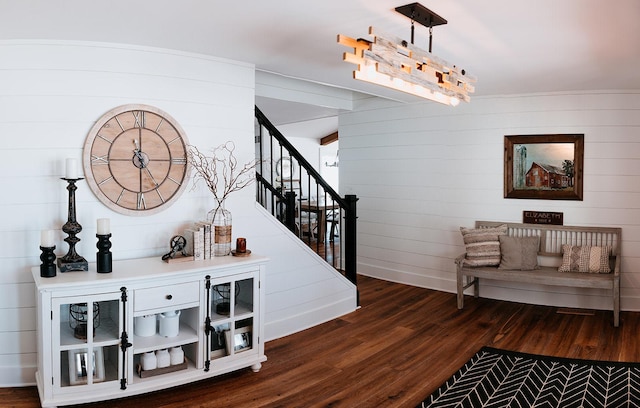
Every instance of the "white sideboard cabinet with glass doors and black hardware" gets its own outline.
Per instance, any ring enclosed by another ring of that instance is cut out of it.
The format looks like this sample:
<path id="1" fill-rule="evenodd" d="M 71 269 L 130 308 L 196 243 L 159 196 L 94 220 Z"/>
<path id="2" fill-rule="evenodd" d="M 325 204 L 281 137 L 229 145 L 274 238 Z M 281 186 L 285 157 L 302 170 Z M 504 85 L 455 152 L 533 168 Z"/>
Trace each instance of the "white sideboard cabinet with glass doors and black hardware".
<path id="1" fill-rule="evenodd" d="M 43 407 L 122 398 L 261 368 L 267 258 L 113 262 L 113 272 L 32 268 Z M 171 355 L 171 359 L 167 357 Z"/>

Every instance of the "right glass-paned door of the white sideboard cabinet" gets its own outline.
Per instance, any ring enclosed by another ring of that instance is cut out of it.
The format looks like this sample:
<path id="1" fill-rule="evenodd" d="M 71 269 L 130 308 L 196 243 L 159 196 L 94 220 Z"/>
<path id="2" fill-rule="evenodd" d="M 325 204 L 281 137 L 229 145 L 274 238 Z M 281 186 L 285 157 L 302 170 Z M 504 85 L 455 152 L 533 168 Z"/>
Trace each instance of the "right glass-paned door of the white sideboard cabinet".
<path id="1" fill-rule="evenodd" d="M 208 363 L 254 350 L 258 341 L 253 330 L 257 325 L 254 314 L 257 285 L 257 280 L 248 274 L 228 279 L 208 277 Z"/>

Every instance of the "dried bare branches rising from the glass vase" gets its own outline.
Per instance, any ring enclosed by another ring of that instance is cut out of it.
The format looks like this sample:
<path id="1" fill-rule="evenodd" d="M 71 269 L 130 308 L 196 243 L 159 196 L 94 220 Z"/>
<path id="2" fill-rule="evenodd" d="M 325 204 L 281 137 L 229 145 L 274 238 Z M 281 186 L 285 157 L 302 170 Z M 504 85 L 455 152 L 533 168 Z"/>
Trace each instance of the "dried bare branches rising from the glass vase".
<path id="1" fill-rule="evenodd" d="M 240 191 L 255 181 L 252 174 L 256 160 L 251 160 L 243 167 L 238 166 L 235 144 L 228 141 L 212 150 L 207 156 L 195 146 L 189 146 L 189 161 L 195 169 L 194 188 L 202 181 L 213 194 L 217 207 L 222 206 L 229 194 Z"/>

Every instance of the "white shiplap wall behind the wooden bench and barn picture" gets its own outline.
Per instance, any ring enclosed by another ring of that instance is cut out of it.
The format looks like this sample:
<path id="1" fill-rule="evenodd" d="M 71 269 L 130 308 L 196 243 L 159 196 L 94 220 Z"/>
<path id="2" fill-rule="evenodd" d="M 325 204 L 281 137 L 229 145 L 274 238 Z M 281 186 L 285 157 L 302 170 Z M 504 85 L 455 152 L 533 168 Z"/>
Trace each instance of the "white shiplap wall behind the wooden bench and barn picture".
<path id="1" fill-rule="evenodd" d="M 455 292 L 460 226 L 522 222 L 523 210 L 565 225 L 620 226 L 622 309 L 640 310 L 640 91 L 432 102 L 362 99 L 340 115 L 340 187 L 358 201 L 358 271 Z M 505 135 L 583 133 L 584 200 L 503 198 Z M 481 295 L 610 309 L 606 292 L 488 282 Z M 456 307 L 452 301 L 451 307 Z"/>

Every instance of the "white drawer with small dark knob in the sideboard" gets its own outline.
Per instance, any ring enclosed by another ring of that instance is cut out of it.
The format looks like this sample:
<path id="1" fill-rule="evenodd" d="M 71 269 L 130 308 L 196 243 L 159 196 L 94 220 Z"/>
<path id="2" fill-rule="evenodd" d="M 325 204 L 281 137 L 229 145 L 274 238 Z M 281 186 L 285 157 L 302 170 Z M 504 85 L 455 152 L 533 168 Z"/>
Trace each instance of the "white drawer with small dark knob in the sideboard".
<path id="1" fill-rule="evenodd" d="M 133 309 L 138 312 L 164 307 L 177 307 L 185 303 L 197 303 L 200 301 L 199 292 L 200 284 L 198 282 L 136 289 L 133 298 Z"/>

